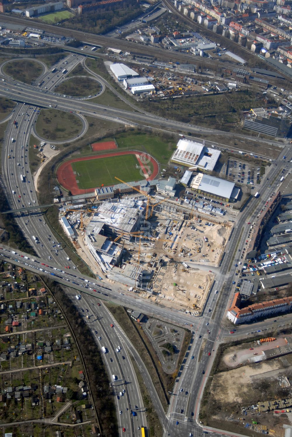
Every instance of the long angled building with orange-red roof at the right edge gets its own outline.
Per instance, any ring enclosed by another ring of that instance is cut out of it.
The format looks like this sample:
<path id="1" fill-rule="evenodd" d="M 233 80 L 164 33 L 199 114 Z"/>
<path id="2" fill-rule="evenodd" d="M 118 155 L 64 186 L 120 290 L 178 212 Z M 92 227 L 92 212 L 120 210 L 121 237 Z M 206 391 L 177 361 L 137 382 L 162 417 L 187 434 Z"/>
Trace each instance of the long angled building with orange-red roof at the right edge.
<path id="1" fill-rule="evenodd" d="M 292 276 L 290 276 L 290 278 L 292 279 Z M 227 311 L 227 319 L 234 323 L 234 325 L 255 322 L 257 319 L 263 317 L 270 317 L 275 314 L 289 312 L 292 309 L 292 296 L 255 303 L 242 309 L 239 308 L 240 303 L 241 295 L 240 293 L 235 293 L 234 299 Z"/>

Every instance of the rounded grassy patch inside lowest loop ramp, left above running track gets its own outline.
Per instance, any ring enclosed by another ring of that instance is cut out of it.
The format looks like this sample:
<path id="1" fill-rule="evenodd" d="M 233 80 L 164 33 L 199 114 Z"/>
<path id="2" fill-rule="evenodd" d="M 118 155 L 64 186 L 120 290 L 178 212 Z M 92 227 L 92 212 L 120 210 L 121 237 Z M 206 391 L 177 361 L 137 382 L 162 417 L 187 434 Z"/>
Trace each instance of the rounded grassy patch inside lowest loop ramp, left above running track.
<path id="1" fill-rule="evenodd" d="M 81 129 L 82 123 L 75 115 L 58 109 L 42 109 L 37 118 L 37 133 L 51 141 L 74 138 Z"/>

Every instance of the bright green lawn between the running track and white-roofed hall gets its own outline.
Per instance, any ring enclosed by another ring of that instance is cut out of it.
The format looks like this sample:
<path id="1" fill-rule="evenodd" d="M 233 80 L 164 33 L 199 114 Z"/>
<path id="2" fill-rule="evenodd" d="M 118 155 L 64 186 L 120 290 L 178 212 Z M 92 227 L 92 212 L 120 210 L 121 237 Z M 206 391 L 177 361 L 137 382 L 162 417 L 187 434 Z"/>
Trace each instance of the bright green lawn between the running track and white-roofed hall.
<path id="1" fill-rule="evenodd" d="M 104 141 L 108 141 L 108 139 Z M 148 152 L 160 164 L 167 164 L 177 144 L 173 139 L 163 139 L 160 136 L 149 135 L 143 132 L 123 132 L 115 135 L 115 141 L 118 147 L 129 147 L 129 149 Z"/>

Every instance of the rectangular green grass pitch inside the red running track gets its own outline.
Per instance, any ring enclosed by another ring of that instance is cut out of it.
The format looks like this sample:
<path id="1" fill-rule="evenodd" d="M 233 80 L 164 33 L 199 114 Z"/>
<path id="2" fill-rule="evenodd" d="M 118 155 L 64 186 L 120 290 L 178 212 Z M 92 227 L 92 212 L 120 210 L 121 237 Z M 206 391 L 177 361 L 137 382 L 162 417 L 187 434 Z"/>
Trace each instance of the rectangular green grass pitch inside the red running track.
<path id="1" fill-rule="evenodd" d="M 109 158 L 100 158 L 87 161 L 78 161 L 72 163 L 72 169 L 76 172 L 78 188 L 83 190 L 87 188 L 100 187 L 117 184 L 115 179 L 132 182 L 132 180 L 142 180 L 139 165 L 135 155 L 110 156 Z"/>

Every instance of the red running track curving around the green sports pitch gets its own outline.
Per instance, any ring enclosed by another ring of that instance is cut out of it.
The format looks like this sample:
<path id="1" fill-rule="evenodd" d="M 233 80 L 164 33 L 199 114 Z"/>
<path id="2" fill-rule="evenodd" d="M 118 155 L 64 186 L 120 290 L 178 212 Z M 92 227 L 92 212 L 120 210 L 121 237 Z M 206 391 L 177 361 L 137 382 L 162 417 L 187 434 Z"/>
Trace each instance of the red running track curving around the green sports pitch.
<path id="1" fill-rule="evenodd" d="M 121 155 L 135 155 L 135 156 L 139 155 L 139 158 L 137 157 L 137 160 L 143 170 L 143 173 L 145 174 L 145 176 L 147 176 L 146 180 L 153 180 L 157 177 L 159 173 L 159 165 L 158 162 L 153 158 L 153 156 L 135 150 L 127 150 L 125 152 L 113 152 L 113 153 L 105 153 L 102 155 L 84 156 L 82 158 L 73 158 L 71 160 L 65 161 L 64 163 L 61 163 L 58 166 L 58 169 L 56 171 L 58 183 L 65 190 L 71 191 L 73 195 L 92 193 L 92 190 L 94 190 L 95 187 L 88 188 L 86 190 L 81 190 L 80 188 L 78 188 L 76 177 L 75 174 L 73 173 L 71 164 L 79 161 L 88 161 L 88 160 L 109 158 L 110 156 L 121 156 Z M 149 168 L 147 167 L 147 163 L 149 162 L 152 163 L 153 165 L 153 172 L 150 175 L 149 175 Z"/>

